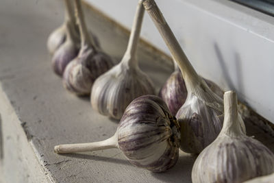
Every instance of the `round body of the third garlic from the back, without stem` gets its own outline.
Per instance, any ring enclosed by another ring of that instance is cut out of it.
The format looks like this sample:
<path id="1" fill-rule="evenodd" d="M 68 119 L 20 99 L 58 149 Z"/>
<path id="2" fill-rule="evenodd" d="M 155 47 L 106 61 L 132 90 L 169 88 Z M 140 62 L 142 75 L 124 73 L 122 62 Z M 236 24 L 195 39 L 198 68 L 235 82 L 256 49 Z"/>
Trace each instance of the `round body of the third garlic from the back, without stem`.
<path id="1" fill-rule="evenodd" d="M 97 77 L 114 65 L 112 58 L 93 49 L 82 49 L 79 56 L 66 66 L 63 75 L 64 87 L 75 95 L 90 95 Z"/>

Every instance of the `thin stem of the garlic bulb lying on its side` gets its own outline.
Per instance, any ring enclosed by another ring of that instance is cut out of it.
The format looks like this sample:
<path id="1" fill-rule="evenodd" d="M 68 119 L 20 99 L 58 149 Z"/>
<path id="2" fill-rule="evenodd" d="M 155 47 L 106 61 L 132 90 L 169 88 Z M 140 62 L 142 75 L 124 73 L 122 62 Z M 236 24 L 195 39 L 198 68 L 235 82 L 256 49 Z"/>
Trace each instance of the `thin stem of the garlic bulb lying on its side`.
<path id="1" fill-rule="evenodd" d="M 86 151 L 98 151 L 103 149 L 111 149 L 117 148 L 117 133 L 114 136 L 95 143 L 77 143 L 77 144 L 62 144 L 56 145 L 54 147 L 55 153 L 58 154 L 69 154 L 69 153 L 77 153 L 77 152 L 86 152 Z"/>

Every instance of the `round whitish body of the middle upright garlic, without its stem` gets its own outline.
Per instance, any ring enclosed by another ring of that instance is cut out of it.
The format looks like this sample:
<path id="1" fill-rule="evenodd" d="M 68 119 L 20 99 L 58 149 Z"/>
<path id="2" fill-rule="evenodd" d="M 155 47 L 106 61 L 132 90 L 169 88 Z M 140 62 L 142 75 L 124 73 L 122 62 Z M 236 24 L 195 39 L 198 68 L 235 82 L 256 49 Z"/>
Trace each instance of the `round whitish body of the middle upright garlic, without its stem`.
<path id="1" fill-rule="evenodd" d="M 91 106 L 100 114 L 121 119 L 131 101 L 154 94 L 149 77 L 138 67 L 127 69 L 123 63 L 97 78 L 92 86 Z"/>

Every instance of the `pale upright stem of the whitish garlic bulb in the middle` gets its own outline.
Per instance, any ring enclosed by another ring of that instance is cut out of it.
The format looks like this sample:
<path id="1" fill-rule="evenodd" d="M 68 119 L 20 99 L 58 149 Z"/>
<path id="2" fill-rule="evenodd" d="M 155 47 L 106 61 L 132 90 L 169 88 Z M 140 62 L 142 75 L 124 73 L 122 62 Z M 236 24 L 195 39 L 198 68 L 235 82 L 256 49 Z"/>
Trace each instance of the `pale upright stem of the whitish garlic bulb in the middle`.
<path id="1" fill-rule="evenodd" d="M 142 27 L 142 19 L 144 17 L 145 9 L 142 6 L 142 0 L 138 2 L 138 6 L 136 8 L 136 13 L 134 16 L 134 22 L 132 25 L 132 31 L 129 36 L 129 42 L 127 44 L 127 50 L 125 51 L 125 55 L 122 59 L 122 62 L 129 66 L 138 65 L 138 60 L 136 58 L 136 51 L 138 46 L 138 40 L 140 37 L 140 31 Z"/>

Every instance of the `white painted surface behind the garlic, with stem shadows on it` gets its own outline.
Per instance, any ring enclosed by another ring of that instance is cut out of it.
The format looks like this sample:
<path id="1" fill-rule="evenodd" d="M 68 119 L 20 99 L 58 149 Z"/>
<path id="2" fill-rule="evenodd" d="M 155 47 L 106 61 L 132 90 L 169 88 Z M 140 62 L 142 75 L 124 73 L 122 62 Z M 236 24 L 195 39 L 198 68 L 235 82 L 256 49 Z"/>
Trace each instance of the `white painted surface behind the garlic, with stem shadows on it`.
<path id="1" fill-rule="evenodd" d="M 86 0 L 129 28 L 137 1 Z M 195 69 L 274 123 L 274 18 L 227 0 L 157 0 Z M 145 15 L 142 37 L 166 53 Z"/>

